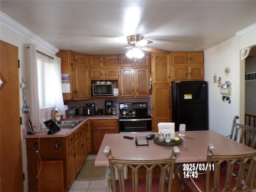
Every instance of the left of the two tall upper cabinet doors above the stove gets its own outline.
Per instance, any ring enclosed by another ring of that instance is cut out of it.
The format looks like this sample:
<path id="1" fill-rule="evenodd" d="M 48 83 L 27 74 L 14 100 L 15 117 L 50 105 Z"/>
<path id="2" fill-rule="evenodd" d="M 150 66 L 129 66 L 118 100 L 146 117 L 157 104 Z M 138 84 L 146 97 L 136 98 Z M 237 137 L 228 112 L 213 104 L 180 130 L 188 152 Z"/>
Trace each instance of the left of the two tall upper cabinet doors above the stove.
<path id="1" fill-rule="evenodd" d="M 121 69 L 121 96 L 134 96 L 134 70 Z"/>

